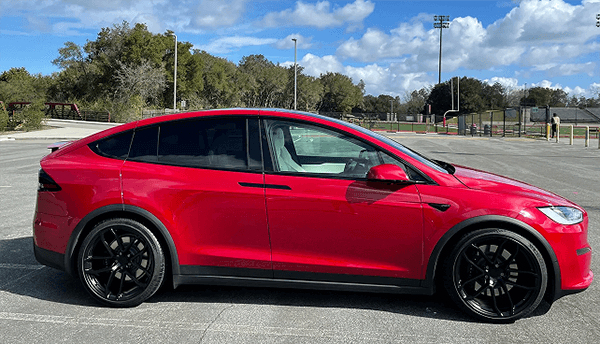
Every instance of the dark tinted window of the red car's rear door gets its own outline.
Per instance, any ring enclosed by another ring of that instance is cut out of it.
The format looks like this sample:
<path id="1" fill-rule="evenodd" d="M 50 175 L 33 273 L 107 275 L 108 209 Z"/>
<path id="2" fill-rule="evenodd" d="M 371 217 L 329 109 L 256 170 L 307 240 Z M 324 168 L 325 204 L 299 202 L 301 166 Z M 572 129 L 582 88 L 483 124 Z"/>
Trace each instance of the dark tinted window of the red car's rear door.
<path id="1" fill-rule="evenodd" d="M 246 120 L 216 118 L 160 126 L 158 161 L 179 166 L 247 169 Z"/>

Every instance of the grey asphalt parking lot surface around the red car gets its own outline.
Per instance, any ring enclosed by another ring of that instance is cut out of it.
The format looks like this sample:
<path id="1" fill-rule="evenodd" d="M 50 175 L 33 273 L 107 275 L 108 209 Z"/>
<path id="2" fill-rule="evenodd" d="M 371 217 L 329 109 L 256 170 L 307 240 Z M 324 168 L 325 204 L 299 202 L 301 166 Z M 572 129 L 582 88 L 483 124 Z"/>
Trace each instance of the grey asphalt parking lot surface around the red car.
<path id="1" fill-rule="evenodd" d="M 600 249 L 600 150 L 528 139 L 391 134 L 429 157 L 519 179 L 589 213 Z M 599 281 L 509 325 L 473 322 L 441 297 L 183 286 L 131 309 L 99 306 L 32 252 L 39 160 L 52 141 L 0 142 L 2 343 L 598 343 Z"/>

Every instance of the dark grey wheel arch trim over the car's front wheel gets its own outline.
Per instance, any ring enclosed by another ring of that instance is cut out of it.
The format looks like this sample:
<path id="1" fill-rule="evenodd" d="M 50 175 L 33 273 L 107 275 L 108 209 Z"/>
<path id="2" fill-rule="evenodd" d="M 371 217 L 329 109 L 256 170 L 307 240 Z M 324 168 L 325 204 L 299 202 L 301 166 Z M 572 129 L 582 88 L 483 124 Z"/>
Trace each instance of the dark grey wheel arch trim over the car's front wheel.
<path id="1" fill-rule="evenodd" d="M 456 244 L 456 242 L 464 234 L 483 228 L 506 229 L 522 235 L 527 240 L 531 241 L 542 253 L 544 262 L 546 263 L 548 269 L 549 281 L 544 298 L 551 303 L 560 297 L 560 267 L 558 265 L 556 254 L 554 253 L 554 250 L 548 241 L 546 241 L 542 234 L 528 224 L 511 217 L 500 215 L 474 217 L 455 225 L 448 232 L 446 232 L 437 242 L 431 253 L 431 256 L 429 257 L 426 277 L 422 286 L 435 288 L 437 282 L 439 282 L 438 280 L 440 274 L 438 273 L 438 269 L 443 266 L 441 260 L 450 254 L 454 244 Z"/>

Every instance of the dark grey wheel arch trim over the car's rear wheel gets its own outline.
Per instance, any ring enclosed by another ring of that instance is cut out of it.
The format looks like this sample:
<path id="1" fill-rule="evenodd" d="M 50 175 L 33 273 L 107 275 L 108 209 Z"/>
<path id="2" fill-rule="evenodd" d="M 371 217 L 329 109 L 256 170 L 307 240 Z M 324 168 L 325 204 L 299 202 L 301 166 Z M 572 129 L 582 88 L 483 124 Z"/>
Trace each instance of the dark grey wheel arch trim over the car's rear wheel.
<path id="1" fill-rule="evenodd" d="M 87 233 L 89 233 L 96 224 L 111 218 L 128 218 L 138 221 L 146 226 L 152 231 L 164 248 L 163 251 L 166 255 L 165 261 L 167 262 L 167 271 L 170 271 L 170 275 L 179 274 L 177 249 L 167 227 L 149 211 L 140 207 L 123 204 L 113 204 L 98 208 L 79 221 L 71 233 L 65 251 L 65 271 L 67 273 L 74 277 L 77 275 L 77 252 Z"/>

